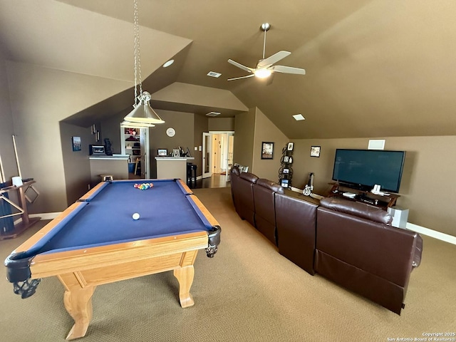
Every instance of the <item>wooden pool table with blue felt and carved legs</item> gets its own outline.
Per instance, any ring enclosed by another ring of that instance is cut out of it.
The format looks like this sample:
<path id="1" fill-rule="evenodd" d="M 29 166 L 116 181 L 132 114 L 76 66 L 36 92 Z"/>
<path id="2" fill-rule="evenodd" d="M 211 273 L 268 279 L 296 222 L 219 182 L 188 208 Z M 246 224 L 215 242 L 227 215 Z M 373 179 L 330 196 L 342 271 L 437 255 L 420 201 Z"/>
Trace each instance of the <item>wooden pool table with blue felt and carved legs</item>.
<path id="1" fill-rule="evenodd" d="M 135 184 L 152 183 L 147 190 Z M 133 219 L 138 213 L 139 219 Z M 21 244 L 5 260 L 7 279 L 22 298 L 41 278 L 57 276 L 75 323 L 67 339 L 86 335 L 95 287 L 173 270 L 182 308 L 199 249 L 217 252 L 221 228 L 182 180 L 100 182 Z"/>

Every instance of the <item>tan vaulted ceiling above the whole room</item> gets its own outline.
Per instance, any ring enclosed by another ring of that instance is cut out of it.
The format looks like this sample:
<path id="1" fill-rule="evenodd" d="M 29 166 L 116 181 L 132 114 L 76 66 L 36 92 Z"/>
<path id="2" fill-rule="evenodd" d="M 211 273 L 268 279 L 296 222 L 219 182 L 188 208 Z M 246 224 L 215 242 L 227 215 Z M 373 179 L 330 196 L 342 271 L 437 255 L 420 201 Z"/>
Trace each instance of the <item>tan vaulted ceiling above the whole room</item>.
<path id="1" fill-rule="evenodd" d="M 290 139 L 456 134 L 455 1 L 139 0 L 139 9 L 142 73 L 154 92 L 174 82 L 229 90 Z M 133 0 L 0 0 L 7 58 L 98 77 L 133 81 L 132 22 Z M 228 58 L 252 67 L 261 58 L 264 22 L 266 57 L 291 51 L 279 64 L 306 76 L 228 82 L 246 74 Z"/>

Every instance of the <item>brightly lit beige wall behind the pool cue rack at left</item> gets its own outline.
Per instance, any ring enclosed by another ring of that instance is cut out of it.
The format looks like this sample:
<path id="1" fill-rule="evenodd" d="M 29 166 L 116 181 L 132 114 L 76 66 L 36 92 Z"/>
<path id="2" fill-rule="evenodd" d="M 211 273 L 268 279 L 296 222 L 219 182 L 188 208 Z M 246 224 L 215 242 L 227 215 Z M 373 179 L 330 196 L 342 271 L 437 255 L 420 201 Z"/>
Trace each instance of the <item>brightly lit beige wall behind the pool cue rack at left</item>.
<path id="1" fill-rule="evenodd" d="M 30 212 L 60 212 L 68 203 L 66 177 L 72 176 L 63 169 L 59 121 L 130 83 L 24 63 L 6 65 L 22 176 L 33 177 L 41 193 Z"/>

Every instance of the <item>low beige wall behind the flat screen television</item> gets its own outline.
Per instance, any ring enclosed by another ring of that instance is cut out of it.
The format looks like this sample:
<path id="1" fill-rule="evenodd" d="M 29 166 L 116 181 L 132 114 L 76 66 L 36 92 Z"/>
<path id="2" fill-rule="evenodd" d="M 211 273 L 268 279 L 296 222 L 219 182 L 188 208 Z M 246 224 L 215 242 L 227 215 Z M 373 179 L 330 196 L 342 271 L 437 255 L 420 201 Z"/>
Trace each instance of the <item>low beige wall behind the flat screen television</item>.
<path id="1" fill-rule="evenodd" d="M 408 222 L 456 236 L 456 136 L 384 139 L 385 150 L 406 151 L 398 206 L 410 210 Z M 295 140 L 294 186 L 304 187 L 314 172 L 314 192 L 326 195 L 336 148 L 367 149 L 368 140 Z M 321 157 L 310 157 L 311 145 L 321 146 Z"/>

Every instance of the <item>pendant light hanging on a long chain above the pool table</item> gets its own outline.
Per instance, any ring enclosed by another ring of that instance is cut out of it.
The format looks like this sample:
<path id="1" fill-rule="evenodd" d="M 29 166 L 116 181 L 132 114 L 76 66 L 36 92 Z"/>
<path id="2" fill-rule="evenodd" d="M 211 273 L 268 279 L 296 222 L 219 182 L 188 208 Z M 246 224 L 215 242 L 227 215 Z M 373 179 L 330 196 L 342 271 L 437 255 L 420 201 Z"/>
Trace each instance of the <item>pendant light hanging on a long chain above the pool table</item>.
<path id="1" fill-rule="evenodd" d="M 150 107 L 152 96 L 147 91 L 142 91 L 141 58 L 140 58 L 140 26 L 138 24 L 138 0 L 133 1 L 134 26 L 135 26 L 135 103 L 133 110 L 125 116 L 124 120 L 131 123 L 165 123 L 155 110 Z M 139 94 L 138 94 L 139 93 Z M 138 127 L 138 126 L 137 126 Z M 145 126 L 143 126 L 145 127 Z M 153 126 L 149 126 L 153 127 Z"/>

